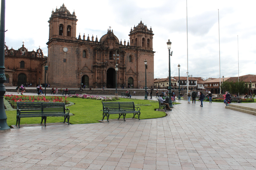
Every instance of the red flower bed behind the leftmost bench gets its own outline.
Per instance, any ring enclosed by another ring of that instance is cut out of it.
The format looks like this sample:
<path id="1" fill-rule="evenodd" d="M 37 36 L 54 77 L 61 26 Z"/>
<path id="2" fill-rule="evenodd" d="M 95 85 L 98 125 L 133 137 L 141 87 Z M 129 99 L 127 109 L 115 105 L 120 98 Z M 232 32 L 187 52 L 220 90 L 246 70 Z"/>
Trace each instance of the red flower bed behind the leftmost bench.
<path id="1" fill-rule="evenodd" d="M 12 108 L 17 108 L 17 102 L 64 102 L 65 105 L 70 104 L 67 97 L 63 100 L 62 97 L 52 96 L 45 98 L 45 96 L 17 96 L 17 95 L 5 95 L 5 99 L 11 104 Z"/>

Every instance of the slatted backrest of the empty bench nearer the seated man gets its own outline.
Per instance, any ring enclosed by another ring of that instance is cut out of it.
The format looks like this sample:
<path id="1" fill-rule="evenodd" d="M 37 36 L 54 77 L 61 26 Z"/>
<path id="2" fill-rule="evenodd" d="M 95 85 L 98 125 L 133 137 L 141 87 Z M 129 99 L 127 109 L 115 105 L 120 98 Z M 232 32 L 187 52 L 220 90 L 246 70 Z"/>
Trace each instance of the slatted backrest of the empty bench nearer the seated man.
<path id="1" fill-rule="evenodd" d="M 134 102 L 102 102 L 103 111 L 109 108 L 110 111 L 134 111 Z"/>

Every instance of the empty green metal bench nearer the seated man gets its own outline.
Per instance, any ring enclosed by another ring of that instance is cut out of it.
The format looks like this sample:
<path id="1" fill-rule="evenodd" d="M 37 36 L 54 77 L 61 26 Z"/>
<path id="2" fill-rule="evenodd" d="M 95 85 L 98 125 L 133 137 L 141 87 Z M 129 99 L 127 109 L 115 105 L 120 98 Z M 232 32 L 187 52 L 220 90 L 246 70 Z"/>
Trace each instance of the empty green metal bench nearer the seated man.
<path id="1" fill-rule="evenodd" d="M 135 117 L 135 115 L 138 115 L 138 119 L 140 120 L 140 107 L 136 107 L 134 105 L 134 102 L 102 102 L 102 106 L 102 121 L 105 118 L 105 116 L 107 117 L 108 121 L 110 114 L 119 114 L 118 120 L 123 115 L 125 121 L 125 116 L 128 113 L 133 113 L 133 118 Z"/>

